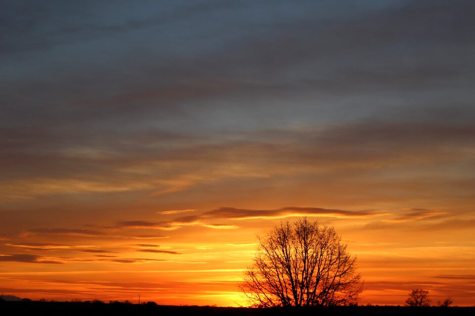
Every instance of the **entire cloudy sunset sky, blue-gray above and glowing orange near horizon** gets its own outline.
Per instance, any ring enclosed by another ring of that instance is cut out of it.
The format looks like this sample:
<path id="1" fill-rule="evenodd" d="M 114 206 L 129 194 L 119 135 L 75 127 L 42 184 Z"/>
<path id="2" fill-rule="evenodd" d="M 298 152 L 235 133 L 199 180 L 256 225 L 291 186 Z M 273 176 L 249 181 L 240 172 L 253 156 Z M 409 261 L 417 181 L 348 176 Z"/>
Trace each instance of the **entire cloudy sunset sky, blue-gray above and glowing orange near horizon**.
<path id="1" fill-rule="evenodd" d="M 0 292 L 239 306 L 308 216 L 361 304 L 475 305 L 474 10 L 0 0 Z"/>

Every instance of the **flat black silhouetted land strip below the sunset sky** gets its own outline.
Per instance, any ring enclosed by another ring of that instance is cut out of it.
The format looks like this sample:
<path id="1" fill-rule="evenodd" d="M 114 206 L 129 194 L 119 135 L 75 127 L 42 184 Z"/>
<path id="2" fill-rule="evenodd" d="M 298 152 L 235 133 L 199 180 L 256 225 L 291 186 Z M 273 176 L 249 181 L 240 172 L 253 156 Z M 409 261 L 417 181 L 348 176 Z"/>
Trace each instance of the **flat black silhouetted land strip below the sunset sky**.
<path id="1" fill-rule="evenodd" d="M 154 304 L 124 304 L 102 302 L 7 302 L 0 301 L 0 315 L 154 315 L 154 316 L 378 316 L 378 315 L 417 315 L 417 316 L 459 316 L 475 315 L 475 307 L 427 307 L 411 308 L 396 306 L 347 306 L 312 309 L 255 309 L 210 306 L 161 306 Z"/>

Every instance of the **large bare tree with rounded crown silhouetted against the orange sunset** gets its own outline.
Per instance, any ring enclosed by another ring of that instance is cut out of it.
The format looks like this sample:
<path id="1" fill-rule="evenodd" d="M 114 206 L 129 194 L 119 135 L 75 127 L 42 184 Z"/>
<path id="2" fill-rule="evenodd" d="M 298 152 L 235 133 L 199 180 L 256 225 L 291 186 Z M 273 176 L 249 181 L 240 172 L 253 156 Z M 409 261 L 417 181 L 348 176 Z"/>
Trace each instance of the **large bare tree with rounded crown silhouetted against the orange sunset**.
<path id="1" fill-rule="evenodd" d="M 363 291 L 356 257 L 333 227 L 307 218 L 281 222 L 259 238 L 239 287 L 249 305 L 331 306 L 355 303 Z"/>

